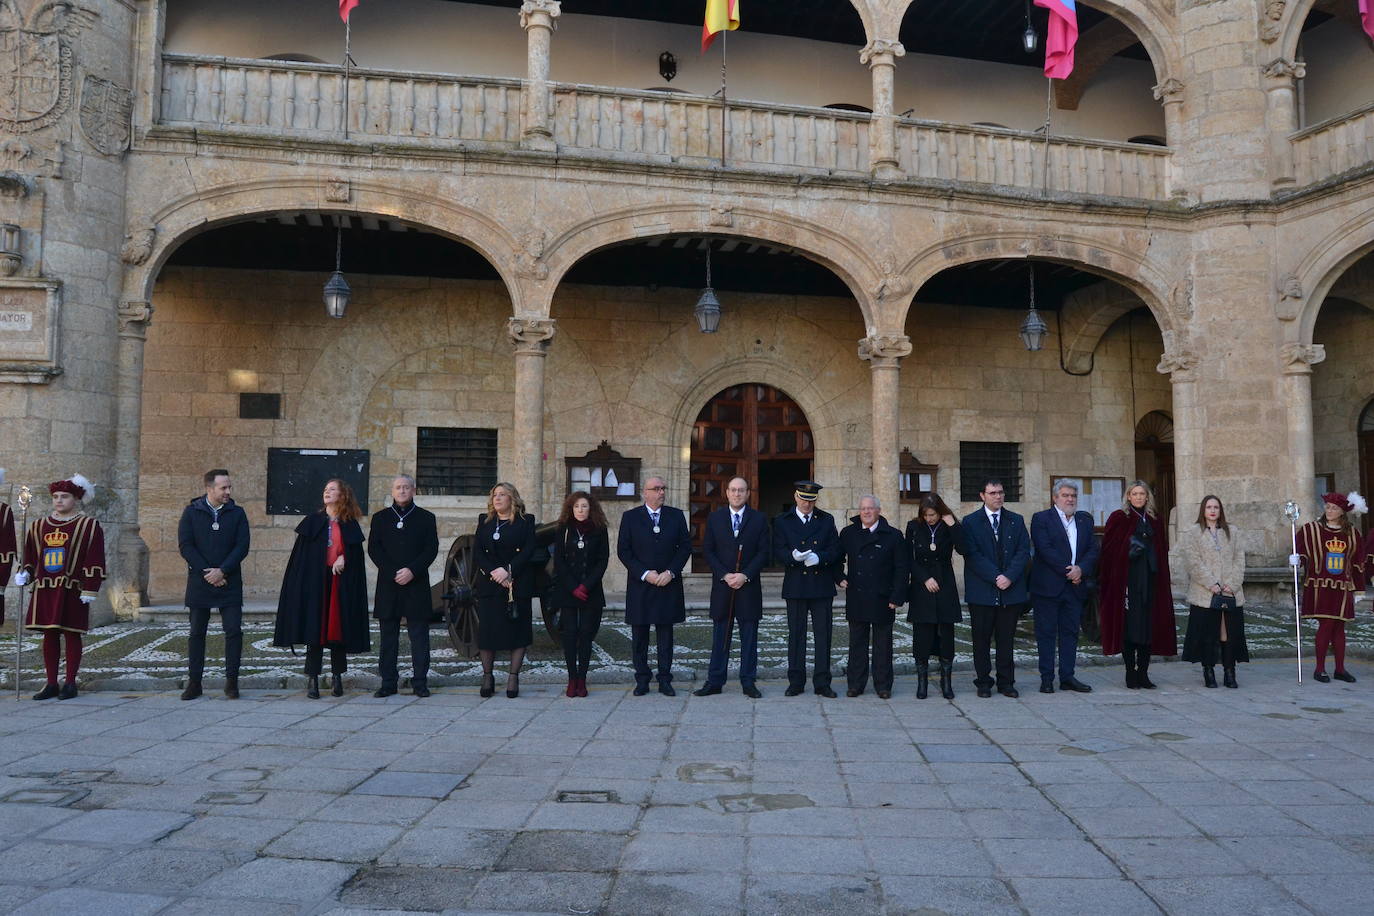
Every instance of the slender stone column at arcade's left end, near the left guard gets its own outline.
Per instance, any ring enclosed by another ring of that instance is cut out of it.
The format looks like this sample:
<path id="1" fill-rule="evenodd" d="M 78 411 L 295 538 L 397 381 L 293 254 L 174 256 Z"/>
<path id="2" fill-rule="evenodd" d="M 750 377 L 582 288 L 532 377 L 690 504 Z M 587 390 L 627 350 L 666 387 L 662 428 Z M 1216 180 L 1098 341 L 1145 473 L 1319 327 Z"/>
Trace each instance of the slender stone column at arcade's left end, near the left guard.
<path id="1" fill-rule="evenodd" d="M 143 346 L 153 305 L 121 302 L 115 367 L 114 481 L 120 526 L 107 595 L 115 614 L 133 614 L 148 602 L 148 545 L 139 531 L 139 446 L 143 433 Z"/>

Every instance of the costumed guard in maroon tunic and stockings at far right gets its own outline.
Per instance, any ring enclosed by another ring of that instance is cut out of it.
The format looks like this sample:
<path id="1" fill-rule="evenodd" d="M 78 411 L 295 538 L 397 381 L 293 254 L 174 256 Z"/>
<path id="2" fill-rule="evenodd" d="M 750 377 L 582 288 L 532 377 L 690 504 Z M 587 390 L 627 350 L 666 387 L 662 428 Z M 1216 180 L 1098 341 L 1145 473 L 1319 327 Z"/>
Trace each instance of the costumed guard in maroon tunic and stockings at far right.
<path id="1" fill-rule="evenodd" d="M 1289 563 L 1303 564 L 1301 614 L 1318 621 L 1312 680 L 1323 684 L 1331 680 L 1326 673 L 1330 648 L 1336 655 L 1336 680 L 1353 684 L 1355 676 L 1345 670 L 1345 622 L 1355 619 L 1355 596 L 1364 591 L 1367 555 L 1349 516 L 1364 512 L 1366 504 L 1359 493 L 1327 493 L 1322 503 L 1325 518 L 1298 529 L 1297 553 Z"/>

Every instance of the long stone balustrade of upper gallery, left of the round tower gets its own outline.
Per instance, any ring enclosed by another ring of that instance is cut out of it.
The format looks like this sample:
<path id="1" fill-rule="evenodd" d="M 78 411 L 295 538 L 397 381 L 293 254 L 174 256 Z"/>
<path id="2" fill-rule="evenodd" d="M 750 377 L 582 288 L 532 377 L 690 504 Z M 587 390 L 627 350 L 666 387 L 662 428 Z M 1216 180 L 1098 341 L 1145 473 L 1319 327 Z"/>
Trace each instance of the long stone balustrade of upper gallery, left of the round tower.
<path id="1" fill-rule="evenodd" d="M 720 102 L 676 92 L 548 84 L 561 154 L 712 165 L 721 157 Z M 448 146 L 521 137 L 521 81 L 354 70 L 349 136 Z M 731 169 L 867 176 L 867 114 L 731 102 Z M 337 66 L 164 55 L 159 124 L 227 132 L 342 137 Z M 1169 151 L 1044 137 L 998 128 L 897 122 L 901 172 L 914 180 L 1002 185 L 1140 201 L 1168 199 Z M 1048 154 L 1048 169 L 1046 155 Z"/>

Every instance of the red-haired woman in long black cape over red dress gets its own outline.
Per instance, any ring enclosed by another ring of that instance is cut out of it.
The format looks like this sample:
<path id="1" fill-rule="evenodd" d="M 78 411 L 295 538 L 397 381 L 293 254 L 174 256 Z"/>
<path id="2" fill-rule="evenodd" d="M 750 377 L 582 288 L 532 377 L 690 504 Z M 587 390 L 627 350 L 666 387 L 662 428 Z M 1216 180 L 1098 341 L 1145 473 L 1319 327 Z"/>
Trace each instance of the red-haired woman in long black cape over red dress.
<path id="1" fill-rule="evenodd" d="M 324 485 L 324 508 L 295 526 L 276 606 L 272 645 L 305 645 L 306 696 L 320 696 L 324 647 L 330 650 L 334 696 L 344 696 L 349 652 L 370 652 L 367 571 L 363 566 L 363 509 L 339 479 Z"/>

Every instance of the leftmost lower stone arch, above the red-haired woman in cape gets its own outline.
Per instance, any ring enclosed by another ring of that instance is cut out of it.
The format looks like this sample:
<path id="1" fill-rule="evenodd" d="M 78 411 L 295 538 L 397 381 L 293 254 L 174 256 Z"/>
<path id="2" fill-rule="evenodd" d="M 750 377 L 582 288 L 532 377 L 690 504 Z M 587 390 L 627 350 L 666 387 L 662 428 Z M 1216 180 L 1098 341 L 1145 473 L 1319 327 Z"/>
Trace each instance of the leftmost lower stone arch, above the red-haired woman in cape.
<path id="1" fill-rule="evenodd" d="M 481 254 L 502 277 L 519 310 L 521 286 L 513 275 L 518 242 L 492 217 L 429 194 L 376 181 L 342 181 L 345 201 L 330 201 L 331 181 L 294 177 L 271 181 L 235 181 L 201 190 L 164 203 L 146 216 L 129 216 L 125 246 L 125 299 L 147 301 L 168 258 L 188 238 L 232 222 L 243 222 L 283 210 L 345 213 L 398 220 L 466 244 Z M 322 268 L 323 269 L 323 268 Z"/>

